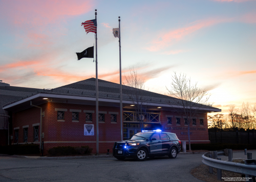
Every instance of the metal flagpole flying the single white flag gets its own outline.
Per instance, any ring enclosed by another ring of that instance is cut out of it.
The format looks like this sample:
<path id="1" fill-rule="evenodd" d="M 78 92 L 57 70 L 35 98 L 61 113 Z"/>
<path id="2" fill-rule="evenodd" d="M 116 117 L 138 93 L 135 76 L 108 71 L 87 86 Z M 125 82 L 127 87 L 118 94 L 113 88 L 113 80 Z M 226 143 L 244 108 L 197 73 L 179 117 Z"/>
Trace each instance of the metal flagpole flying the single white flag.
<path id="1" fill-rule="evenodd" d="M 123 140 L 123 103 L 122 103 L 122 68 L 121 68 L 121 31 L 120 31 L 120 16 L 119 21 L 119 69 L 120 69 L 120 123 L 121 123 L 121 141 Z"/>

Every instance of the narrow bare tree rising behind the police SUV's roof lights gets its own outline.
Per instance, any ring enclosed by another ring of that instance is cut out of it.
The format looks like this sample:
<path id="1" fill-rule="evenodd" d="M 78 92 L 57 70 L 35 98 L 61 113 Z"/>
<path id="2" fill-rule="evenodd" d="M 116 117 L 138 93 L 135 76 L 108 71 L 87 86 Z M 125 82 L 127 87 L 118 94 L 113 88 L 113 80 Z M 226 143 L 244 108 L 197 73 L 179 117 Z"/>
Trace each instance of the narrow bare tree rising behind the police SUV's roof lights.
<path id="1" fill-rule="evenodd" d="M 137 71 L 135 71 L 134 68 L 130 68 L 130 74 L 127 76 L 125 75 L 125 80 L 126 84 L 123 83 L 123 85 L 129 86 L 128 89 L 130 89 L 130 93 L 128 95 L 135 106 L 135 120 L 140 122 L 140 129 L 142 131 L 144 128 L 146 108 L 148 104 L 145 96 L 143 95 L 143 92 L 145 91 L 144 80 L 141 80 L 138 77 Z"/>

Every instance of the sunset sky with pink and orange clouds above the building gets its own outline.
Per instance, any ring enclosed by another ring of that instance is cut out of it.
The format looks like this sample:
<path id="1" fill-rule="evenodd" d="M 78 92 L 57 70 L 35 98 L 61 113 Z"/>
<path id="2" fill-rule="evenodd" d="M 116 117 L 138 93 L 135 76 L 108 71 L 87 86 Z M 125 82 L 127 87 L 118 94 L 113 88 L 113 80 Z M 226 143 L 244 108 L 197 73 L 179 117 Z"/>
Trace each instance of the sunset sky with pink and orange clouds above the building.
<path id="1" fill-rule="evenodd" d="M 256 105 L 256 0 L 7 1 L 0 0 L 0 80 L 11 86 L 55 88 L 95 77 L 93 46 L 81 22 L 97 9 L 99 79 L 119 83 L 134 67 L 149 91 L 165 94 L 185 73 L 227 112 Z"/>

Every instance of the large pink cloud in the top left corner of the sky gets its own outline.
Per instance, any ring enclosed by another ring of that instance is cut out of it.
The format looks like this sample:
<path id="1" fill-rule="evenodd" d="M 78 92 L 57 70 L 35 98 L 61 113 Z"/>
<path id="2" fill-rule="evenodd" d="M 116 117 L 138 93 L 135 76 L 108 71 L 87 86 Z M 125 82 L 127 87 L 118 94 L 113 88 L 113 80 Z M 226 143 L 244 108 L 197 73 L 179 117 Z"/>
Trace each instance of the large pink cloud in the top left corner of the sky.
<path id="1" fill-rule="evenodd" d="M 65 21 L 64 16 L 75 16 L 87 13 L 92 8 L 91 1 L 45 0 L 45 1 L 4 1 L 1 11 L 13 23 L 26 26 L 45 25 Z M 12 13 L 8 13 L 12 10 Z"/>

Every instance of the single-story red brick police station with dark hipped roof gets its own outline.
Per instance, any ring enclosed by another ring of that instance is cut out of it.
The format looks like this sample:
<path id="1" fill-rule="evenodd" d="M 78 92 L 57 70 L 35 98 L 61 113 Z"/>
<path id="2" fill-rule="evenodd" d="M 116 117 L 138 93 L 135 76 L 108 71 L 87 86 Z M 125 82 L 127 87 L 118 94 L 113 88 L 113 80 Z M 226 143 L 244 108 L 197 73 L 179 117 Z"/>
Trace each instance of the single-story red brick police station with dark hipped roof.
<path id="1" fill-rule="evenodd" d="M 99 152 L 105 153 L 107 149 L 111 152 L 114 142 L 121 140 L 119 84 L 98 80 L 98 89 Z M 122 93 L 123 139 L 127 139 L 140 132 L 140 126 L 129 96 L 131 88 L 122 86 Z M 188 141 L 186 119 L 172 112 L 176 106 L 170 105 L 170 97 L 149 91 L 141 94 L 148 100 L 144 128 L 176 133 L 181 141 Z M 44 153 L 54 146 L 84 145 L 96 153 L 95 99 L 95 79 L 91 78 L 51 90 L 37 90 L 8 103 L 3 109 L 12 113 L 12 143 L 39 144 L 41 135 Z M 207 113 L 221 110 L 204 106 L 202 111 L 190 123 L 191 143 L 209 143 Z"/>

